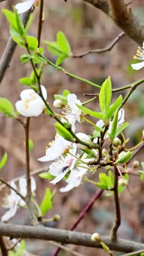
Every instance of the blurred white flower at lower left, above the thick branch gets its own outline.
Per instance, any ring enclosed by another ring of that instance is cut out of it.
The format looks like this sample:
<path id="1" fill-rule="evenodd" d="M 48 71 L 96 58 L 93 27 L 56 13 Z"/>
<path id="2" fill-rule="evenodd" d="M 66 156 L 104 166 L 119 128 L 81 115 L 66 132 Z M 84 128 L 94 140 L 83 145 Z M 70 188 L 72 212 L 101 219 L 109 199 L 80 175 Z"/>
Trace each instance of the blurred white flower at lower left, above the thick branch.
<path id="1" fill-rule="evenodd" d="M 17 189 L 14 182 L 11 182 L 10 185 L 14 189 Z M 27 195 L 26 186 L 27 186 L 26 178 L 23 178 L 23 177 L 20 178 L 19 179 L 19 190 L 20 190 L 20 194 L 24 197 Z M 32 193 L 36 189 L 35 179 L 33 177 L 31 177 L 31 189 L 32 189 Z M 18 205 L 25 206 L 26 203 L 25 203 L 25 201 L 23 201 L 21 199 L 21 197 L 19 195 L 17 195 L 15 193 L 15 191 L 13 189 L 11 189 L 11 194 L 7 196 L 7 205 L 4 206 L 5 208 L 9 208 L 9 210 L 7 212 L 5 212 L 5 214 L 2 216 L 2 219 L 1 219 L 2 222 L 7 222 L 10 218 L 15 216 Z"/>

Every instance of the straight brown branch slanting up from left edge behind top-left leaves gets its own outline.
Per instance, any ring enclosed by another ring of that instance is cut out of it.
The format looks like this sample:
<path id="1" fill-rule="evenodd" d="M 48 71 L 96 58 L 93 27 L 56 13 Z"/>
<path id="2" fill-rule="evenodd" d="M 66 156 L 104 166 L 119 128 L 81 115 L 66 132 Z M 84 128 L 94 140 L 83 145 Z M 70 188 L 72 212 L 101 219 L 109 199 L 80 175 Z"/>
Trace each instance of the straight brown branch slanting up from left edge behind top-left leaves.
<path id="1" fill-rule="evenodd" d="M 27 21 L 29 19 L 29 15 L 31 14 L 31 10 L 28 10 L 26 13 L 22 14 L 22 22 L 23 25 L 26 26 Z M 14 51 L 16 49 L 16 43 L 13 41 L 13 39 L 10 37 L 8 40 L 8 43 L 4 49 L 1 61 L 0 61 L 0 84 L 2 82 L 2 79 L 4 77 L 4 74 L 9 67 L 9 63 L 13 57 Z"/>

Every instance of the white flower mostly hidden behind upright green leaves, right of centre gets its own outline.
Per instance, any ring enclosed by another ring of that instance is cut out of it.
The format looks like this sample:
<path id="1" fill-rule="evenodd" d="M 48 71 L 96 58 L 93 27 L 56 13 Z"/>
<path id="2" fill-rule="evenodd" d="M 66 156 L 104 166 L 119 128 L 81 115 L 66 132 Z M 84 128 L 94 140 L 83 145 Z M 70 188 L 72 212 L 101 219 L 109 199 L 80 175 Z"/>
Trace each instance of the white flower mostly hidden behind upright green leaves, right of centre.
<path id="1" fill-rule="evenodd" d="M 121 108 L 119 111 L 118 111 L 118 121 L 117 121 L 117 127 L 121 124 L 124 123 L 124 109 Z M 103 128 L 103 126 L 105 126 L 105 123 L 103 120 L 99 120 L 96 125 L 99 127 L 99 128 Z M 106 137 L 105 138 L 109 138 L 109 133 L 111 131 L 111 125 L 112 125 L 112 121 L 110 122 L 110 125 L 109 125 L 109 129 L 107 130 L 107 134 L 106 134 Z M 98 142 L 98 138 L 95 138 L 93 140 L 93 143 L 97 143 Z"/>

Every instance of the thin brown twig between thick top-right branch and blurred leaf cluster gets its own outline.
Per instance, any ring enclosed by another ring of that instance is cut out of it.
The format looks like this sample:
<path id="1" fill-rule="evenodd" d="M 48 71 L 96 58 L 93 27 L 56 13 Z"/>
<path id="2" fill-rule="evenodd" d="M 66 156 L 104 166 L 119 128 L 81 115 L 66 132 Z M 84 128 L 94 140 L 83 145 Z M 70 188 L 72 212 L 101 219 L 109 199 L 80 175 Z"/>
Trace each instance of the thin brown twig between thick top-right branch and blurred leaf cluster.
<path id="1" fill-rule="evenodd" d="M 113 46 L 115 46 L 115 44 L 116 44 L 122 37 L 124 37 L 124 36 L 125 36 L 124 32 L 121 32 L 121 33 L 119 33 L 118 36 L 110 43 L 110 45 L 107 46 L 106 48 L 103 48 L 103 49 L 96 49 L 96 50 L 89 50 L 89 51 L 86 51 L 86 53 L 82 53 L 82 54 L 78 54 L 78 55 L 73 55 L 72 57 L 73 57 L 73 58 L 81 58 L 81 57 L 83 57 L 83 56 L 86 56 L 86 55 L 92 54 L 92 53 L 98 53 L 98 54 L 100 54 L 100 53 L 106 53 L 106 51 L 110 51 L 110 50 L 113 48 Z"/>

